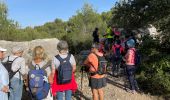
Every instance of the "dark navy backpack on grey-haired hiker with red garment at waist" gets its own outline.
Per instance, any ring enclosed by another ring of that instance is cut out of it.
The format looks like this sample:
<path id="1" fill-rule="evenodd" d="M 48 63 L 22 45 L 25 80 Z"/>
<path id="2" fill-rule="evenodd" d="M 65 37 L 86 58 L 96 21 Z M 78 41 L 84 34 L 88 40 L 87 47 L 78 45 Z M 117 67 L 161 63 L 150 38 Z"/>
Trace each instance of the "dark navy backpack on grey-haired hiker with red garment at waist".
<path id="1" fill-rule="evenodd" d="M 55 56 L 59 61 L 60 65 L 57 69 L 57 83 L 67 84 L 71 82 L 72 79 L 72 65 L 70 63 L 71 54 L 68 54 L 66 58 L 61 58 L 60 55 Z"/>

